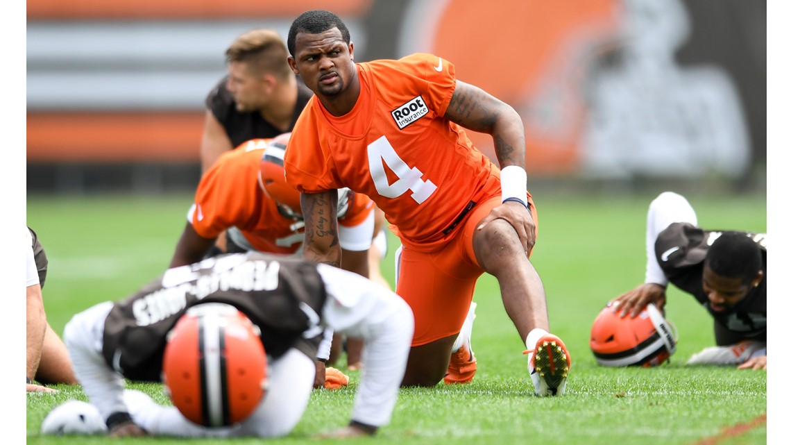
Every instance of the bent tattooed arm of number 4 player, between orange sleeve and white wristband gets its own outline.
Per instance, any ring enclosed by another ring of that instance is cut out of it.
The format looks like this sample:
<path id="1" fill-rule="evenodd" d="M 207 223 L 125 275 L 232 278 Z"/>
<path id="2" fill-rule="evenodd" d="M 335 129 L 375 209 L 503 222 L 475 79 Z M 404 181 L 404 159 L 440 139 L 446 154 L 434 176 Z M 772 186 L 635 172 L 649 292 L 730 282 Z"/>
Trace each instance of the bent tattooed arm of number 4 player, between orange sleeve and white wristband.
<path id="1" fill-rule="evenodd" d="M 457 80 L 445 118 L 472 131 L 490 134 L 501 168 L 524 167 L 524 124 L 510 105 L 477 86 Z"/>

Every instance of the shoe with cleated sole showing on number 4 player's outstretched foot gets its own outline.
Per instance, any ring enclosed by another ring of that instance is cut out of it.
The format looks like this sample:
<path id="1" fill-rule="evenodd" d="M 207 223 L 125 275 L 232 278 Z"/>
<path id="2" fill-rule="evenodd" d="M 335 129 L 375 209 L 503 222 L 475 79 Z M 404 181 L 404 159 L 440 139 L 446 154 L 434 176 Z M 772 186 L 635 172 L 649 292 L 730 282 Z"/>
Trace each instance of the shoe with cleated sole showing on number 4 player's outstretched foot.
<path id="1" fill-rule="evenodd" d="M 535 348 L 523 354 L 528 354 L 528 371 L 536 395 L 557 396 L 566 392 L 571 355 L 562 340 L 548 333 L 536 341 Z"/>

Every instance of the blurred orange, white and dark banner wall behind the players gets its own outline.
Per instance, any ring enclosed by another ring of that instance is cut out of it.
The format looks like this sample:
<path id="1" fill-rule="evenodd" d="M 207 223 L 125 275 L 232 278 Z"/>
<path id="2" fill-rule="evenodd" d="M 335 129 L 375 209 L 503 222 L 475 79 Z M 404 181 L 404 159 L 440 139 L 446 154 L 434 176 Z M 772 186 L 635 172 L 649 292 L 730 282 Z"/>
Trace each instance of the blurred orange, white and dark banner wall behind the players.
<path id="1" fill-rule="evenodd" d="M 532 180 L 766 189 L 765 1 L 28 0 L 28 192 L 194 188 L 225 48 L 316 8 L 513 105 Z"/>

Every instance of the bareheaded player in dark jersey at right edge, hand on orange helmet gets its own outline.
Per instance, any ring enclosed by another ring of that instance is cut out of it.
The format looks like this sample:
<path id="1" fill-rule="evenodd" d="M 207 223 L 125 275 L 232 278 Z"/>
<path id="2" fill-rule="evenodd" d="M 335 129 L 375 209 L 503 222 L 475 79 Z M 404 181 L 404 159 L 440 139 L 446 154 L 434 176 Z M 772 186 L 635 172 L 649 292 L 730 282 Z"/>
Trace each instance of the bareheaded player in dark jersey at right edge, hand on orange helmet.
<path id="1" fill-rule="evenodd" d="M 664 192 L 649 206 L 645 244 L 645 283 L 615 299 L 615 310 L 661 310 L 673 283 L 714 319 L 717 346 L 687 364 L 766 369 L 766 234 L 702 229 L 683 196 Z"/>

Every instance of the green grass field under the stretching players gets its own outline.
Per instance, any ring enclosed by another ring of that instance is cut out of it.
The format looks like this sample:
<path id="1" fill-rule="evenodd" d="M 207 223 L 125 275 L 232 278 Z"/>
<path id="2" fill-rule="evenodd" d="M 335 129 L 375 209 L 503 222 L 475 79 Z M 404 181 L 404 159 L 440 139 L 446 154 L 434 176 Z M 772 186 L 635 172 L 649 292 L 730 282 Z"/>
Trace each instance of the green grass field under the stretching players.
<path id="1" fill-rule="evenodd" d="M 483 276 L 475 294 L 478 310 L 472 344 L 479 363 L 475 380 L 465 386 L 402 390 L 392 423 L 376 438 L 352 442 L 766 443 L 766 423 L 760 420 L 766 413 L 766 372 L 684 367 L 694 352 L 713 344 L 712 321 L 694 299 L 675 288 L 668 292 L 667 317 L 679 331 L 679 346 L 671 363 L 653 369 L 596 366 L 588 347 L 592 321 L 608 299 L 642 282 L 645 211 L 654 196 L 536 193 L 539 239 L 532 261 L 547 290 L 552 331 L 572 354 L 565 396 L 532 396 L 524 344 L 505 315 L 496 281 Z M 766 231 L 766 196 L 687 198 L 702 226 Z M 163 272 L 190 203 L 191 196 L 28 196 L 28 225 L 40 235 L 50 260 L 44 301 L 53 328 L 62 332 L 78 311 L 122 298 Z M 392 283 L 395 238 L 391 241 L 383 273 Z M 314 391 L 293 433 L 267 443 L 304 443 L 313 433 L 346 424 L 359 378 L 358 372 L 349 374 L 349 388 Z M 135 386 L 167 402 L 161 386 Z M 39 434 L 49 409 L 68 398 L 85 397 L 79 387 L 60 386 L 59 390 L 58 394 L 28 394 L 27 442 L 107 443 L 102 437 Z M 732 428 L 751 422 L 755 426 L 744 431 Z M 181 442 L 128 439 L 114 443 Z M 234 439 L 233 443 L 260 440 Z"/>

